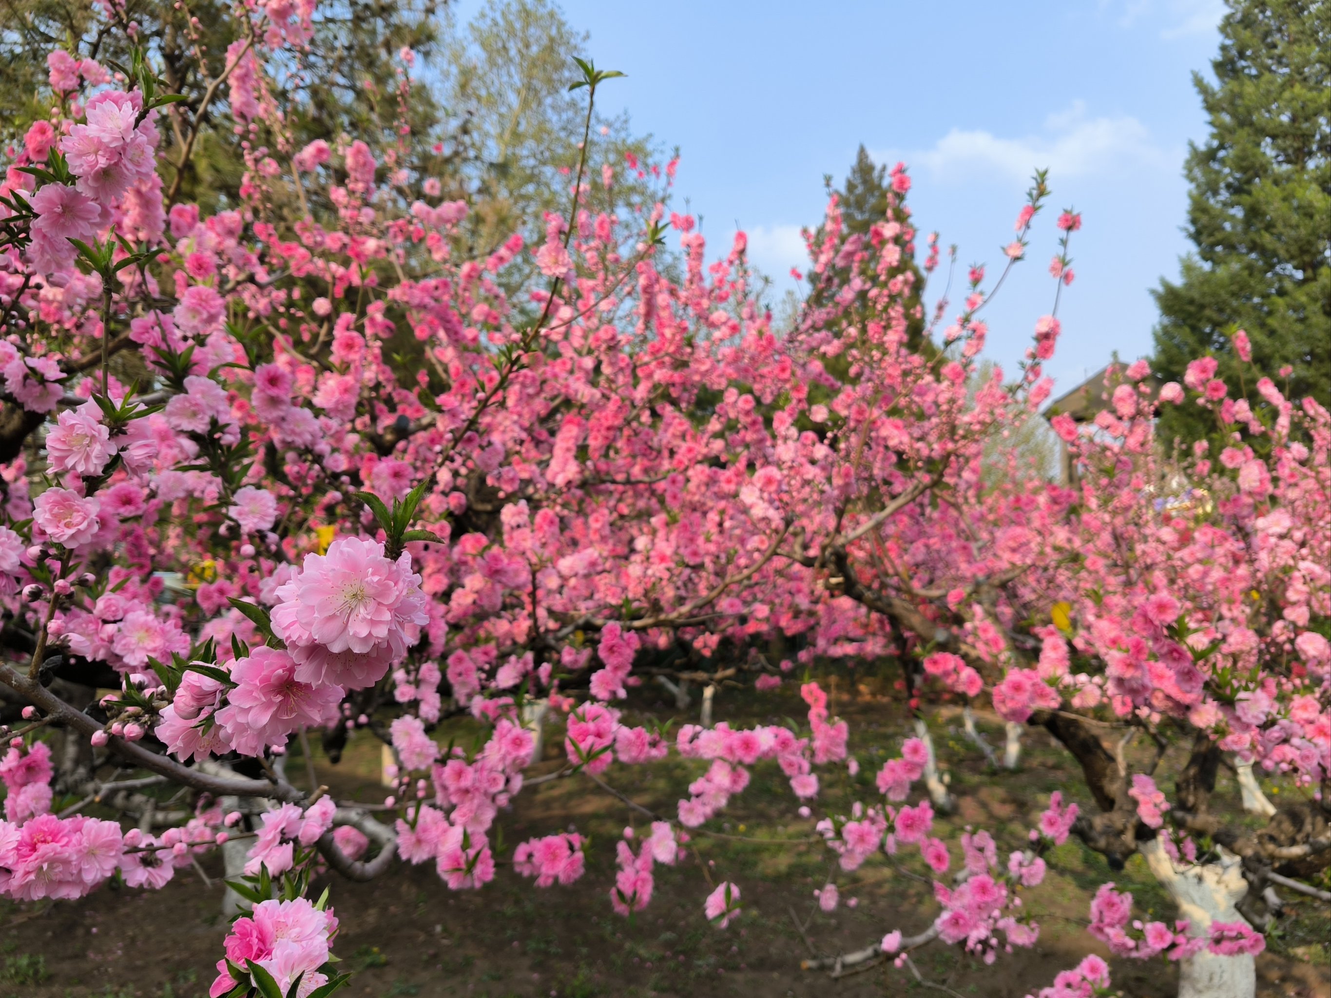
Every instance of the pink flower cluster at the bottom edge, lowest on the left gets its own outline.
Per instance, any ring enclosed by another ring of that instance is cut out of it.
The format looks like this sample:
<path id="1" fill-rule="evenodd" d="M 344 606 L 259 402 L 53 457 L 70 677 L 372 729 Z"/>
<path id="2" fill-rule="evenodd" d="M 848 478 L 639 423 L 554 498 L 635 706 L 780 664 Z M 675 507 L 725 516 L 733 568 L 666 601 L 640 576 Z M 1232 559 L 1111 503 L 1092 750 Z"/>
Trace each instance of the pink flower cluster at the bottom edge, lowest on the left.
<path id="1" fill-rule="evenodd" d="M 309 994 L 327 982 L 319 967 L 327 963 L 334 935 L 337 918 L 333 912 L 321 912 L 306 898 L 261 901 L 250 914 L 232 923 L 225 943 L 226 959 L 217 961 L 217 979 L 208 991 L 209 998 L 221 998 L 244 983 L 232 977 L 228 961 L 241 970 L 250 962 L 264 967 L 282 994 L 299 977 L 299 994 Z"/>

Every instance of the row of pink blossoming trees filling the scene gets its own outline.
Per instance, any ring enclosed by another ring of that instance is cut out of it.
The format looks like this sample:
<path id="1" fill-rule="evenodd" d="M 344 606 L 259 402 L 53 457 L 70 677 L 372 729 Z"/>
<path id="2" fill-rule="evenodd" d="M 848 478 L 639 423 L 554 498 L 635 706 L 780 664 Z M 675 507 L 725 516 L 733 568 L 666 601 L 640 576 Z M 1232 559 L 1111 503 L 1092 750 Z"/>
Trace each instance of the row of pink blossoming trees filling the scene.
<path id="1" fill-rule="evenodd" d="M 1058 216 L 1054 309 L 1012 382 L 977 363 L 1006 269 L 986 286 L 973 267 L 962 307 L 944 295 L 928 335 L 909 334 L 938 253 L 930 237 L 916 266 L 900 166 L 868 236 L 829 204 L 809 305 L 779 331 L 744 237 L 709 263 L 693 220 L 667 214 L 673 162 L 598 161 L 591 108 L 618 73 L 580 64 L 568 213 L 536 245 L 515 234 L 470 258 L 467 204 L 402 168 L 403 146 L 291 146 L 282 81 L 317 16 L 238 5 L 226 72 L 194 106 L 164 92 L 150 52 L 126 67 L 100 65 L 92 40 L 52 52 L 51 116 L 12 150 L 0 683 L 23 720 L 0 765 L 0 892 L 160 888 L 221 846 L 244 914 L 213 994 L 322 997 L 345 981 L 327 897 L 307 896 L 325 868 L 433 862 L 458 890 L 496 860 L 536 888 L 583 877 L 576 833 L 511 856 L 492 841 L 548 712 L 567 765 L 538 778 L 584 780 L 643 818 L 616 846 L 620 913 L 650 904 L 656 868 L 771 760 L 843 870 L 918 846 L 937 876 L 918 925 L 815 966 L 1033 945 L 1016 889 L 1071 834 L 1111 865 L 1142 853 L 1179 904 L 1138 926 L 1106 884 L 1090 931 L 1113 953 L 1179 961 L 1186 995 L 1252 994 L 1278 892 L 1328 900 L 1308 884 L 1331 865 L 1326 409 L 1260 371 L 1226 385 L 1209 358 L 1157 390 L 1137 362 L 1093 426 L 1053 419 L 1075 480 L 1013 467 L 996 484 L 986 443 L 1053 387 L 1078 216 Z M 134 36 L 114 4 L 104 29 Z M 240 204 L 201 217 L 164 190 L 157 150 L 162 129 L 216 113 L 244 136 L 246 173 Z M 660 200 L 618 201 L 626 174 Z M 616 210 L 587 210 L 592 185 Z M 1047 193 L 1037 176 L 1006 267 Z M 539 283 L 510 285 L 518 261 Z M 1226 446 L 1167 452 L 1154 416 L 1170 405 L 1206 409 Z M 797 655 L 757 653 L 776 636 Z M 1045 728 L 1093 798 L 1055 794 L 1029 841 L 952 845 L 933 834 L 946 790 L 922 724 L 878 797 L 824 804 L 820 773 L 858 762 L 816 683 L 799 727 L 669 739 L 616 708 L 650 677 L 768 689 L 796 665 L 882 655 L 912 663 L 917 700 L 949 689 Z M 487 732 L 473 750 L 431 737 L 457 715 Z M 287 773 L 291 740 L 307 760 L 318 735 L 335 757 L 358 728 L 394 749 L 391 824 Z M 1154 747 L 1141 770 L 1134 737 Z M 1175 743 L 1190 754 L 1170 786 L 1158 765 Z M 672 752 L 700 772 L 672 813 L 606 780 L 611 761 Z M 1227 758 L 1303 796 L 1260 830 L 1227 824 L 1209 806 Z M 906 804 L 920 781 L 928 796 Z M 190 806 L 162 806 L 158 784 Z M 137 828 L 85 817 L 95 804 Z M 703 905 L 720 927 L 741 912 L 743 872 L 729 877 Z M 835 882 L 820 900 L 837 904 Z M 1044 994 L 1109 986 L 1089 957 Z"/>

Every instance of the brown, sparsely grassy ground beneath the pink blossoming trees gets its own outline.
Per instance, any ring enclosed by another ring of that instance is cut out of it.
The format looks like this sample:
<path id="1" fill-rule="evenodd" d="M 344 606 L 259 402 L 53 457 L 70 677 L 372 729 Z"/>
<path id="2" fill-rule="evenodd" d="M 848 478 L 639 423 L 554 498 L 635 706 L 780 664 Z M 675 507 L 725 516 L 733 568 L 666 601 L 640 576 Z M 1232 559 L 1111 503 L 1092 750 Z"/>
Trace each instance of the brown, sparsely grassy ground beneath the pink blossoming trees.
<path id="1" fill-rule="evenodd" d="M 900 748 L 908 717 L 886 696 L 877 679 L 833 676 L 833 708 L 851 720 L 852 752 L 862 764 L 856 781 L 841 770 L 824 777 L 827 806 L 853 796 L 874 800 L 872 777 L 881 761 Z M 667 713 L 654 692 L 636 691 L 630 712 Z M 803 704 L 787 684 L 776 696 L 761 699 L 727 691 L 717 699 L 716 720 L 732 724 L 776 723 L 801 717 Z M 1089 802 L 1085 785 L 1069 756 L 1042 732 L 1025 740 L 1020 772 L 990 770 L 980 750 L 960 731 L 954 709 L 941 708 L 932 719 L 940 756 L 952 778 L 960 806 L 942 820 L 940 836 L 956 840 L 966 825 L 989 828 L 1000 852 L 1020 846 L 1033 817 L 1049 793 L 1062 789 L 1071 800 Z M 466 744 L 466 723 L 442 732 Z M 981 719 L 992 741 L 998 739 L 996 719 Z M 547 737 L 546 758 L 531 772 L 554 772 L 562 756 L 559 732 Z M 1167 757 L 1169 772 L 1177 760 Z M 382 800 L 377 786 L 379 749 L 370 741 L 354 743 L 337 766 L 314 760 L 321 782 L 339 800 Z M 672 812 L 687 782 L 701 764 L 672 761 L 651 770 L 615 765 L 604 778 L 658 812 Z M 290 773 L 303 772 L 303 760 L 291 760 Z M 858 784 L 858 785 L 856 785 Z M 1279 788 L 1288 793 L 1290 788 Z M 1222 804 L 1236 808 L 1233 781 L 1222 777 Z M 642 826 L 642 816 L 607 796 L 586 778 L 554 780 L 523 792 L 510 813 L 500 817 L 503 841 L 512 844 L 534 834 L 575 825 L 591 834 L 587 873 L 574 888 L 535 890 L 530 881 L 500 866 L 494 884 L 480 892 L 454 893 L 431 866 L 397 864 L 373 884 L 349 884 L 333 877 L 331 898 L 342 931 L 335 951 L 357 971 L 349 995 L 399 998 L 402 995 L 458 995 L 508 998 L 647 997 L 711 998 L 720 995 L 877 995 L 942 994 L 918 983 L 909 970 L 877 966 L 866 973 L 832 981 L 804 971 L 800 961 L 817 953 L 857 949 L 894 927 L 920 931 L 937 906 L 914 849 L 902 852 L 900 868 L 882 858 L 837 877 L 841 897 L 851 908 L 829 914 L 817 909 L 813 890 L 831 869 L 831 853 L 808 841 L 812 821 L 795 813 L 787 781 L 775 764 L 760 764 L 749 788 L 733 798 L 708 825 L 731 838 L 699 836 L 688 858 L 675 869 L 658 868 L 656 896 L 632 919 L 615 915 L 608 902 L 614 878 L 614 842 L 626 824 Z M 1154 884 L 1139 857 L 1126 869 L 1109 872 L 1102 857 L 1075 840 L 1049 856 L 1050 874 L 1024 893 L 1025 904 L 1041 923 L 1038 945 L 1002 955 L 985 966 L 956 949 L 934 945 L 920 953 L 920 973 L 954 995 L 1021 998 L 1049 985 L 1087 950 L 1101 951 L 1085 931 L 1090 894 L 1105 880 L 1130 888 L 1137 915 L 1173 918 L 1173 906 Z M 198 998 L 214 977 L 221 955 L 225 921 L 220 917 L 221 873 L 214 860 L 204 864 L 214 878 L 205 886 L 193 870 L 157 894 L 102 889 L 77 902 L 16 905 L 0 909 L 0 998 Z M 912 876 L 913 874 L 913 876 Z M 744 915 L 727 931 L 716 931 L 703 917 L 701 901 L 709 884 L 732 880 L 744 894 Z M 322 889 L 322 888 L 318 888 Z M 803 931 L 797 927 L 797 922 Z M 1331 922 L 1326 906 L 1294 905 L 1294 914 L 1268 935 L 1268 951 L 1258 959 L 1259 994 L 1298 998 L 1331 995 L 1328 970 Z M 1175 990 L 1174 967 L 1115 962 L 1114 982 L 1125 994 L 1166 998 Z"/>

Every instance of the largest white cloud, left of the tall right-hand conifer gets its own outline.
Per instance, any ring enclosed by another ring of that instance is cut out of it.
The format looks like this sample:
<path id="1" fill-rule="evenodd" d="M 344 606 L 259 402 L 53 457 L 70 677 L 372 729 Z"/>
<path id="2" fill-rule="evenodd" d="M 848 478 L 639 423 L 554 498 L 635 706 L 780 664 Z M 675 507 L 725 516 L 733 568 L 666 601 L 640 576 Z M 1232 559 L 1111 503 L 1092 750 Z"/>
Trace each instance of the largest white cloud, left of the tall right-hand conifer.
<path id="1" fill-rule="evenodd" d="M 932 149 L 909 154 L 908 162 L 945 176 L 998 172 L 1024 181 L 1037 168 L 1049 168 L 1055 177 L 1082 177 L 1130 165 L 1174 169 L 1175 160 L 1151 142 L 1137 118 L 1089 118 L 1085 105 L 1077 101 L 1050 114 L 1044 134 L 1005 138 L 982 129 L 954 128 Z"/>

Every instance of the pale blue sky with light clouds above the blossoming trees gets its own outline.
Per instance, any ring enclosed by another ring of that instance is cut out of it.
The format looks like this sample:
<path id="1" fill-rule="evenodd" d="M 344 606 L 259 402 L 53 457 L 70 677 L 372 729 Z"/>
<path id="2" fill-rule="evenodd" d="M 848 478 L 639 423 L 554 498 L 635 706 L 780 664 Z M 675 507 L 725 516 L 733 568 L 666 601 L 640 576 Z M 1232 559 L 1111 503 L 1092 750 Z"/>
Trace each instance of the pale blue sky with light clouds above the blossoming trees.
<path id="1" fill-rule="evenodd" d="M 688 198 L 719 251 L 739 225 L 767 273 L 800 263 L 823 176 L 840 182 L 864 142 L 909 165 L 921 229 L 996 274 L 1032 169 L 1047 166 L 1051 208 L 1085 220 L 1050 373 L 1070 387 L 1115 350 L 1150 351 L 1147 291 L 1189 248 L 1182 164 L 1206 137 L 1191 72 L 1210 73 L 1221 0 L 560 5 L 596 65 L 628 73 L 604 108 L 680 148 L 676 209 Z M 988 314 L 986 353 L 1009 373 L 1053 301 L 1053 213 L 1041 222 Z"/>

